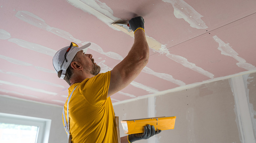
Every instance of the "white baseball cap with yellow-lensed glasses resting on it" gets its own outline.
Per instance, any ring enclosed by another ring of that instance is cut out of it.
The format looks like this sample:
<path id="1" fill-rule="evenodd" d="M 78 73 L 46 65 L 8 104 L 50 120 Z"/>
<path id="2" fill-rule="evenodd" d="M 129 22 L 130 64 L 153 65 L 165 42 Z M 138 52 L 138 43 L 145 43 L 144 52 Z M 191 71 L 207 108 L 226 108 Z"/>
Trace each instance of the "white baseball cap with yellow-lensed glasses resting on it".
<path id="1" fill-rule="evenodd" d="M 64 78 L 66 74 L 66 70 L 68 69 L 71 61 L 74 59 L 75 54 L 78 51 L 83 50 L 84 53 L 87 52 L 87 48 L 91 45 L 91 43 L 87 43 L 82 47 L 78 48 L 77 44 L 71 42 L 70 46 L 64 47 L 60 49 L 54 56 L 53 56 L 53 67 L 55 71 L 62 70 L 60 78 Z"/>

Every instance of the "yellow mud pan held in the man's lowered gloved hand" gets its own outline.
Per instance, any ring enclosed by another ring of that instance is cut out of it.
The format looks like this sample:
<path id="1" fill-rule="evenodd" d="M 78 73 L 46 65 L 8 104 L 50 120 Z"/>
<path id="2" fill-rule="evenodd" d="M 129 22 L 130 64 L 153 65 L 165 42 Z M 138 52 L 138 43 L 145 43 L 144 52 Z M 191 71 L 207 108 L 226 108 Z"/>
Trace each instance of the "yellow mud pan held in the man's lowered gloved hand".
<path id="1" fill-rule="evenodd" d="M 137 134 L 144 132 L 144 126 L 154 125 L 157 130 L 174 129 L 175 117 L 155 117 L 145 119 L 133 119 L 121 121 L 125 134 Z"/>

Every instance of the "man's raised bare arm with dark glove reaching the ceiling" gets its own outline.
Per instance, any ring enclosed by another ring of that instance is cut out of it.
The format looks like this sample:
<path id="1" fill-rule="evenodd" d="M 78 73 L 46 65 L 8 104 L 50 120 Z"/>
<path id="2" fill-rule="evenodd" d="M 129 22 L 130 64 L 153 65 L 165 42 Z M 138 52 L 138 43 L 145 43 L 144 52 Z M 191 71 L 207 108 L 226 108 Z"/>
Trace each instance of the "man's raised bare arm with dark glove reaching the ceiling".
<path id="1" fill-rule="evenodd" d="M 128 55 L 111 71 L 108 97 L 127 87 L 148 63 L 149 48 L 144 32 L 144 19 L 132 18 L 129 25 L 134 32 L 134 44 Z"/>

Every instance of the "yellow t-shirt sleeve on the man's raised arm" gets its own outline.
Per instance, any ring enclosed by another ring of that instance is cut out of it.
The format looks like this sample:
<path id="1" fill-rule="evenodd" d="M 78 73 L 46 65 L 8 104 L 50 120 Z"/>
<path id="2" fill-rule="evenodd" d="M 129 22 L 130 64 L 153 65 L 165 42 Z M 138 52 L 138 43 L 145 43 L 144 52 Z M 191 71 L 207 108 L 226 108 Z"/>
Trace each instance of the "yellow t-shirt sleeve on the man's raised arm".
<path id="1" fill-rule="evenodd" d="M 85 100 L 93 106 L 104 106 L 108 96 L 110 71 L 100 73 L 80 85 L 80 92 Z"/>

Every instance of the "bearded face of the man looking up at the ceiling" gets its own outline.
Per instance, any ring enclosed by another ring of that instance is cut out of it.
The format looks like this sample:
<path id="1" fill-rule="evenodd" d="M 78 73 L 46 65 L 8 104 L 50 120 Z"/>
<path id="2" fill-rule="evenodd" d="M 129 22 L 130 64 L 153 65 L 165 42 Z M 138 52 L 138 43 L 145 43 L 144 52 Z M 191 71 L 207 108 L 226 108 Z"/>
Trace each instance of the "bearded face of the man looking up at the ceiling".
<path id="1" fill-rule="evenodd" d="M 84 54 L 82 50 L 78 51 L 77 54 L 85 72 L 93 75 L 99 74 L 100 67 L 94 62 L 91 54 Z"/>

